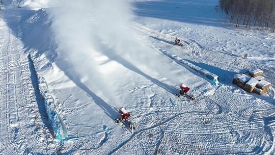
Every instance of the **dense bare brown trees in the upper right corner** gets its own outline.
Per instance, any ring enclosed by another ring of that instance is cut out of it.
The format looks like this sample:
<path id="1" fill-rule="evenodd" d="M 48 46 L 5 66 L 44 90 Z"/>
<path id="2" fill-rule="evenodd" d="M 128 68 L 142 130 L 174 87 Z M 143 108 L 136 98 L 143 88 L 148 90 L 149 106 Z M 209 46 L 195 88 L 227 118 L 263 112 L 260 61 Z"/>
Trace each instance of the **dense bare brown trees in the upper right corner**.
<path id="1" fill-rule="evenodd" d="M 230 17 L 245 28 L 257 27 L 275 31 L 275 0 L 219 0 L 219 6 Z"/>

